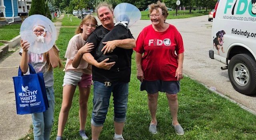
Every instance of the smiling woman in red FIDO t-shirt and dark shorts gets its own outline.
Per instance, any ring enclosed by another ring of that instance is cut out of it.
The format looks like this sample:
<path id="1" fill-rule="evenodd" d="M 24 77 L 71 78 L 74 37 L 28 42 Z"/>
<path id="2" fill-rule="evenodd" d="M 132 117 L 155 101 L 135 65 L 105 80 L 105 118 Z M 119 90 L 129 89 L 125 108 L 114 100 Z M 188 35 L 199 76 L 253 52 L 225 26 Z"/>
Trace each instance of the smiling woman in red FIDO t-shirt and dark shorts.
<path id="1" fill-rule="evenodd" d="M 182 79 L 184 58 L 183 40 L 178 30 L 165 22 L 168 10 L 164 3 L 158 1 L 149 6 L 152 24 L 140 32 L 136 47 L 137 78 L 140 90 L 148 92 L 148 107 L 151 114 L 149 131 L 156 134 L 156 109 L 158 92 L 166 92 L 172 114 L 172 125 L 176 133 L 184 134 L 178 115 L 179 80 Z M 142 56 L 142 54 L 144 55 Z"/>

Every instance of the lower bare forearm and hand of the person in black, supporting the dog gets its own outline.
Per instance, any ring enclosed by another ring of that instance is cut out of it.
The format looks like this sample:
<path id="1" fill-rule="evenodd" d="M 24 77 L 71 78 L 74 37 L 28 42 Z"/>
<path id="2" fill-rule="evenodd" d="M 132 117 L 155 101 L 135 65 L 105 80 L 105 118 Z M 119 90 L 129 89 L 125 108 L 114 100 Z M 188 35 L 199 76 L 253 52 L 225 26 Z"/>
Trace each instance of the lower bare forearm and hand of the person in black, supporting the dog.
<path id="1" fill-rule="evenodd" d="M 109 70 L 116 63 L 116 62 L 107 63 L 109 58 L 106 58 L 102 62 L 97 62 L 94 59 L 94 57 L 92 56 L 92 54 L 90 54 L 89 52 L 83 54 L 83 59 L 86 60 L 89 64 L 92 64 L 92 65 L 96 66 L 97 68 L 102 68 L 105 70 Z"/>

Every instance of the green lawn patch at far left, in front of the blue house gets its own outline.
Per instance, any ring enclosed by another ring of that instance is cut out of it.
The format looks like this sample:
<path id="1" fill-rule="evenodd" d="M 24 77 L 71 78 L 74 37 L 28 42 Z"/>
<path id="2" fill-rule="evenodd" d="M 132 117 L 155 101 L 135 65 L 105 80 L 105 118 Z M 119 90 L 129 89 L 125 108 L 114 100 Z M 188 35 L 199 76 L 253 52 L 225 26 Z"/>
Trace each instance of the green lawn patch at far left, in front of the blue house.
<path id="1" fill-rule="evenodd" d="M 20 34 L 21 24 L 0 26 L 0 40 L 10 41 Z"/>

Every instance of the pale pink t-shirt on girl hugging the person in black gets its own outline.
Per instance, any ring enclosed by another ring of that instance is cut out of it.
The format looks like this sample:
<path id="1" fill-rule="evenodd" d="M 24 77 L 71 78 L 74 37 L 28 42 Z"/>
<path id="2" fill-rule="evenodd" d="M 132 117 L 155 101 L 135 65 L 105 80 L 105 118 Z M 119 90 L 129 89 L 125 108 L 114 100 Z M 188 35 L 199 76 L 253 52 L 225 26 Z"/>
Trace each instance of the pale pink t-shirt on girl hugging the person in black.
<path id="1" fill-rule="evenodd" d="M 74 35 L 68 42 L 68 48 L 66 50 L 65 58 L 67 58 L 65 71 L 74 70 L 76 72 L 82 72 L 84 74 L 92 74 L 92 65 L 88 64 L 85 60 L 81 59 L 77 68 L 72 66 L 72 60 L 76 56 L 78 50 L 85 44 L 85 40 L 82 38 L 82 33 Z"/>

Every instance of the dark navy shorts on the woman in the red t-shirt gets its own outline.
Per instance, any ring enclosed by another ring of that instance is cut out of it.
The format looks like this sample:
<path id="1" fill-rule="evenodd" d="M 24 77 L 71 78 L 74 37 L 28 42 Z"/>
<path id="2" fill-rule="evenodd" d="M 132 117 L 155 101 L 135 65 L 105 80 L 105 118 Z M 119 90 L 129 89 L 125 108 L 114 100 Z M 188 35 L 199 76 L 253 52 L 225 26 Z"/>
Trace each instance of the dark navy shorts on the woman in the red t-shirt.
<path id="1" fill-rule="evenodd" d="M 154 94 L 156 92 L 166 92 L 168 94 L 177 94 L 180 92 L 180 82 L 179 81 L 146 81 L 140 85 L 140 91 L 146 90 L 149 94 Z"/>

